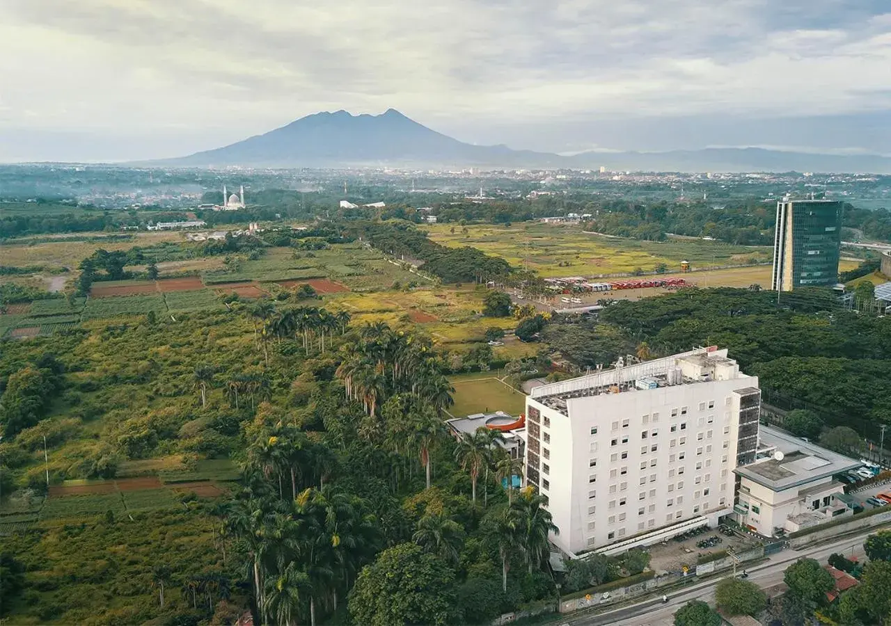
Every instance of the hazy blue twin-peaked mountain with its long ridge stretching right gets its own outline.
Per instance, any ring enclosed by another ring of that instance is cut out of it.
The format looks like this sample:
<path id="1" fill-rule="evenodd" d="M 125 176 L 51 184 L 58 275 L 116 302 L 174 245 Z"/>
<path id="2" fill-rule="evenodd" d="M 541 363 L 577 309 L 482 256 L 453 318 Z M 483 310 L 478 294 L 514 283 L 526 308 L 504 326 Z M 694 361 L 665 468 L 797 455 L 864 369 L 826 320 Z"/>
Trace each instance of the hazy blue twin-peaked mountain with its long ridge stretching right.
<path id="1" fill-rule="evenodd" d="M 710 148 L 669 152 L 583 152 L 563 157 L 459 142 L 397 110 L 351 115 L 345 110 L 299 118 L 287 126 L 216 150 L 154 161 L 179 167 L 606 167 L 646 172 L 871 172 L 891 173 L 891 159 Z"/>

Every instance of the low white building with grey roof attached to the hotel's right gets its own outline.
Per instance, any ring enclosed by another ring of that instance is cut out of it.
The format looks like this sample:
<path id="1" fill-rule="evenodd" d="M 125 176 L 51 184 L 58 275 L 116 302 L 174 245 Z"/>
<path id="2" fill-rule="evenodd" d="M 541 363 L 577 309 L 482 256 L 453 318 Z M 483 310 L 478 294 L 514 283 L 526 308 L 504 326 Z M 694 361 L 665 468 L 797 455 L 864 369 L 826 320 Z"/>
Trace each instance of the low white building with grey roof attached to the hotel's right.
<path id="1" fill-rule="evenodd" d="M 733 516 L 767 537 L 795 533 L 837 516 L 853 515 L 836 495 L 844 484 L 833 476 L 862 463 L 762 426 L 754 463 L 737 467 L 739 491 Z"/>

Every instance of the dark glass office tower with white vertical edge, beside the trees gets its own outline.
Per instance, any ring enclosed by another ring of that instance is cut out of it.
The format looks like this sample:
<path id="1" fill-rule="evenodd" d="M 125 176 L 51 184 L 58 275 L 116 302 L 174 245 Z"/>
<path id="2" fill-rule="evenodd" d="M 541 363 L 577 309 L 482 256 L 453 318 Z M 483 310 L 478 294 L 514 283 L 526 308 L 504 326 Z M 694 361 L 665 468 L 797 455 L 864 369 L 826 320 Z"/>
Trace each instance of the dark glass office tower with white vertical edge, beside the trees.
<path id="1" fill-rule="evenodd" d="M 841 214 L 841 202 L 836 200 L 777 202 L 772 289 L 790 291 L 838 283 Z"/>

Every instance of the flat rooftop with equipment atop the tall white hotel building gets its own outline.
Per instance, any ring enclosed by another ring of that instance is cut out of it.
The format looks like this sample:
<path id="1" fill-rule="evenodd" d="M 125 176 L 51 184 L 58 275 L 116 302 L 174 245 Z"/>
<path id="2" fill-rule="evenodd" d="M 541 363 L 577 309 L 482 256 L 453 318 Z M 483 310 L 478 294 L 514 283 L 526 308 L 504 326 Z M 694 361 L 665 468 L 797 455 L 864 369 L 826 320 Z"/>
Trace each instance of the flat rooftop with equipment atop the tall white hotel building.
<path id="1" fill-rule="evenodd" d="M 611 370 L 538 386 L 530 397 L 567 415 L 567 402 L 575 398 L 737 378 L 749 377 L 740 372 L 737 362 L 728 358 L 727 350 L 711 346 L 634 365 L 618 363 Z"/>

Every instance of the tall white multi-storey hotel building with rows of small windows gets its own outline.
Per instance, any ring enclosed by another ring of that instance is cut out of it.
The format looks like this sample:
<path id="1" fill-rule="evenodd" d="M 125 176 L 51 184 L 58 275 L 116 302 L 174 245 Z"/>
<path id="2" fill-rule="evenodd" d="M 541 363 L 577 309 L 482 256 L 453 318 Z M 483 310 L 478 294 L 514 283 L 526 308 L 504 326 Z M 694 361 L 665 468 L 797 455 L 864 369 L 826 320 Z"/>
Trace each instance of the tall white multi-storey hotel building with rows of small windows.
<path id="1" fill-rule="evenodd" d="M 526 480 L 552 541 L 613 554 L 716 524 L 755 460 L 760 406 L 758 379 L 714 346 L 535 388 Z"/>

